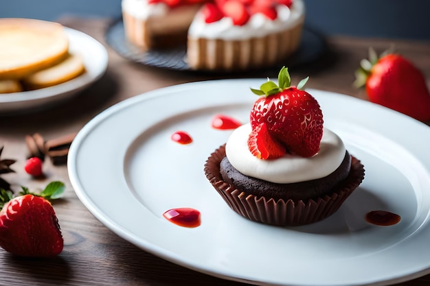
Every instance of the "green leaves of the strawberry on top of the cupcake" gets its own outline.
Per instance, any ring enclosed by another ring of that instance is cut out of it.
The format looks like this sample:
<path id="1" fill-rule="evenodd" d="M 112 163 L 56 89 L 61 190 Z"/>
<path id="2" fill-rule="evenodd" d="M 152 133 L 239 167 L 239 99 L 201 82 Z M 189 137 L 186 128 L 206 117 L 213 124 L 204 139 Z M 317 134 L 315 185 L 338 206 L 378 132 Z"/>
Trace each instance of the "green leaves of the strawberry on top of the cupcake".
<path id="1" fill-rule="evenodd" d="M 308 82 L 309 77 L 304 78 L 297 84 L 297 89 L 302 90 L 306 82 Z M 264 82 L 260 89 L 251 88 L 251 91 L 256 95 L 265 95 L 269 97 L 270 95 L 274 95 L 276 93 L 280 93 L 284 91 L 286 88 L 291 87 L 291 76 L 288 73 L 288 69 L 286 67 L 282 67 L 278 74 L 278 84 L 272 82 L 269 78 L 267 78 L 267 82 Z"/>

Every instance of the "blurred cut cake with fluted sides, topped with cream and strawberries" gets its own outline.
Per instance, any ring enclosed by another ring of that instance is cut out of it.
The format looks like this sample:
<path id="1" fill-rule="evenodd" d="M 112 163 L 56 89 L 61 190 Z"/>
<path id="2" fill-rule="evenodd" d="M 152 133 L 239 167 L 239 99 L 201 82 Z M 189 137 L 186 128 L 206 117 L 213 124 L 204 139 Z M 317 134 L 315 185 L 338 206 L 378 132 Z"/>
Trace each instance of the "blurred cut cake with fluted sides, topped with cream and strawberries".
<path id="1" fill-rule="evenodd" d="M 191 69 L 240 71 L 291 56 L 305 9 L 303 0 L 123 0 L 122 12 L 131 43 L 152 49 L 182 39 Z"/>

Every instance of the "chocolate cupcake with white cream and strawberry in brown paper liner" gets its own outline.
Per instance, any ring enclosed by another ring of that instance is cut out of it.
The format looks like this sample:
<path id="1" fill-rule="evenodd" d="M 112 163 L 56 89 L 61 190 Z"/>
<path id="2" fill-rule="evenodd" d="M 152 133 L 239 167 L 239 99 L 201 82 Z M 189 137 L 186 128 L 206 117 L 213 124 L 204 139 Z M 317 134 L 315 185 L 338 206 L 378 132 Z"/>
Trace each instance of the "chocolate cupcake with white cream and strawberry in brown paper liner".
<path id="1" fill-rule="evenodd" d="M 324 128 L 317 100 L 291 86 L 286 68 L 268 81 L 250 122 L 205 163 L 205 175 L 230 208 L 255 222 L 299 226 L 335 213 L 364 179 L 361 162 Z"/>

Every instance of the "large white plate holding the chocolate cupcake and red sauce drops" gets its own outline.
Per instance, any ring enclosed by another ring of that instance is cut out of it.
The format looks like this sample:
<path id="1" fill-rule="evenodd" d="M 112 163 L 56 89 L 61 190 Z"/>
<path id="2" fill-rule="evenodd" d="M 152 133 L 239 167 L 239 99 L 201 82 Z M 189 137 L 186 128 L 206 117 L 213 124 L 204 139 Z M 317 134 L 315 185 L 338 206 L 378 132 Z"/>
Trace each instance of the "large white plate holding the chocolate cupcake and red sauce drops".
<path id="1" fill-rule="evenodd" d="M 231 211 L 206 180 L 207 156 L 231 131 L 214 115 L 245 122 L 263 80 L 220 80 L 152 91 L 90 121 L 69 153 L 78 197 L 108 228 L 143 250 L 193 270 L 256 285 L 388 285 L 430 272 L 430 129 L 347 95 L 308 90 L 325 125 L 365 165 L 365 180 L 339 211 L 316 224 L 280 228 Z M 190 145 L 170 140 L 189 132 Z M 170 208 L 201 211 L 197 228 L 164 219 Z M 368 211 L 402 217 L 365 222 Z"/>

